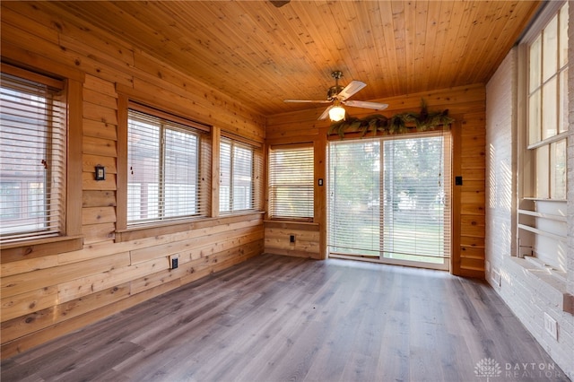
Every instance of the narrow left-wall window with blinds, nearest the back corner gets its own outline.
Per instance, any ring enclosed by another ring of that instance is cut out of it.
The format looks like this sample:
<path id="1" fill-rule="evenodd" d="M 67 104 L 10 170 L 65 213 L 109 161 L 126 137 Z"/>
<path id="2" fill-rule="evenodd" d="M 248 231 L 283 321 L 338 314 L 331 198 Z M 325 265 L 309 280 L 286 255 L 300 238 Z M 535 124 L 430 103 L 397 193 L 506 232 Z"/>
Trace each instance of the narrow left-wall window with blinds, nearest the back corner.
<path id="1" fill-rule="evenodd" d="M 220 148 L 220 213 L 254 210 L 261 153 L 247 143 L 222 137 Z"/>

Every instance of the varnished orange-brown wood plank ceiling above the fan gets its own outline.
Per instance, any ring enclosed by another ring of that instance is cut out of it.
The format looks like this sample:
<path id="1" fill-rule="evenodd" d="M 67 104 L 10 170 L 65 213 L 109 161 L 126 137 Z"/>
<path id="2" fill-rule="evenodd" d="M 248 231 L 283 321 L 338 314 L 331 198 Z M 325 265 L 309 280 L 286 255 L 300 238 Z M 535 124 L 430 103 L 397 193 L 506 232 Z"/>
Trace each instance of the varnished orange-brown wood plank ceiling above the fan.
<path id="1" fill-rule="evenodd" d="M 487 82 L 539 1 L 39 2 L 232 95 L 265 116 L 367 82 L 352 100 Z"/>

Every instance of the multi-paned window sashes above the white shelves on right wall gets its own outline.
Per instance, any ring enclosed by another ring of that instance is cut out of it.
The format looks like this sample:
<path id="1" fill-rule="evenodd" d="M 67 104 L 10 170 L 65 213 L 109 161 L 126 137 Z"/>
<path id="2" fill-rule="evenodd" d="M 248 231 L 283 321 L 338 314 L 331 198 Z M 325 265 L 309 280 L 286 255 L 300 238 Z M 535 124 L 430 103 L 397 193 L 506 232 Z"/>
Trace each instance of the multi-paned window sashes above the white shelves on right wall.
<path id="1" fill-rule="evenodd" d="M 568 3 L 555 13 L 528 50 L 528 143 L 540 199 L 566 199 L 568 130 Z"/>

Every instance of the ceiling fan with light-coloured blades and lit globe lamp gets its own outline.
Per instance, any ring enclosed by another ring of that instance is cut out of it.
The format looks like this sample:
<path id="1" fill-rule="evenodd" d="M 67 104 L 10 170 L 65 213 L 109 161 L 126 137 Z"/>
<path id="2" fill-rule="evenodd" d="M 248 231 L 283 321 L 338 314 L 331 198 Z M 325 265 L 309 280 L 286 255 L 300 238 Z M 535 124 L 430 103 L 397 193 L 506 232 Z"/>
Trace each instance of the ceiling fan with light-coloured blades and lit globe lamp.
<path id="1" fill-rule="evenodd" d="M 378 102 L 366 102 L 362 100 L 347 100 L 357 91 L 367 86 L 365 82 L 353 80 L 347 86 L 343 87 L 339 85 L 339 79 L 343 77 L 343 73 L 340 71 L 335 71 L 331 73 L 331 77 L 335 78 L 335 86 L 331 86 L 326 92 L 326 100 L 284 100 L 285 102 L 308 102 L 308 103 L 333 103 L 333 105 L 326 108 L 326 110 L 321 114 L 318 119 L 325 119 L 327 116 L 331 118 L 332 121 L 340 121 L 344 118 L 345 111 L 341 105 L 352 106 L 354 108 L 364 108 L 364 109 L 376 109 L 382 110 L 387 109 L 388 105 L 386 103 Z"/>

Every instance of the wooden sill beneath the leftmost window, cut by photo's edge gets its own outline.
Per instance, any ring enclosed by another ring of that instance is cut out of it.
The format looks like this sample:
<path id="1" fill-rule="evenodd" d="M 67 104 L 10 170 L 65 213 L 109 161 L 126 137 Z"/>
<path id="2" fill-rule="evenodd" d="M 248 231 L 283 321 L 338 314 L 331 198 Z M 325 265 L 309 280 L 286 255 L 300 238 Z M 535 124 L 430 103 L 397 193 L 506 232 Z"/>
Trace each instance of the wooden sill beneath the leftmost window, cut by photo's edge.
<path id="1" fill-rule="evenodd" d="M 41 256 L 57 255 L 83 248 L 83 235 L 57 236 L 0 244 L 2 263 L 10 263 Z"/>

